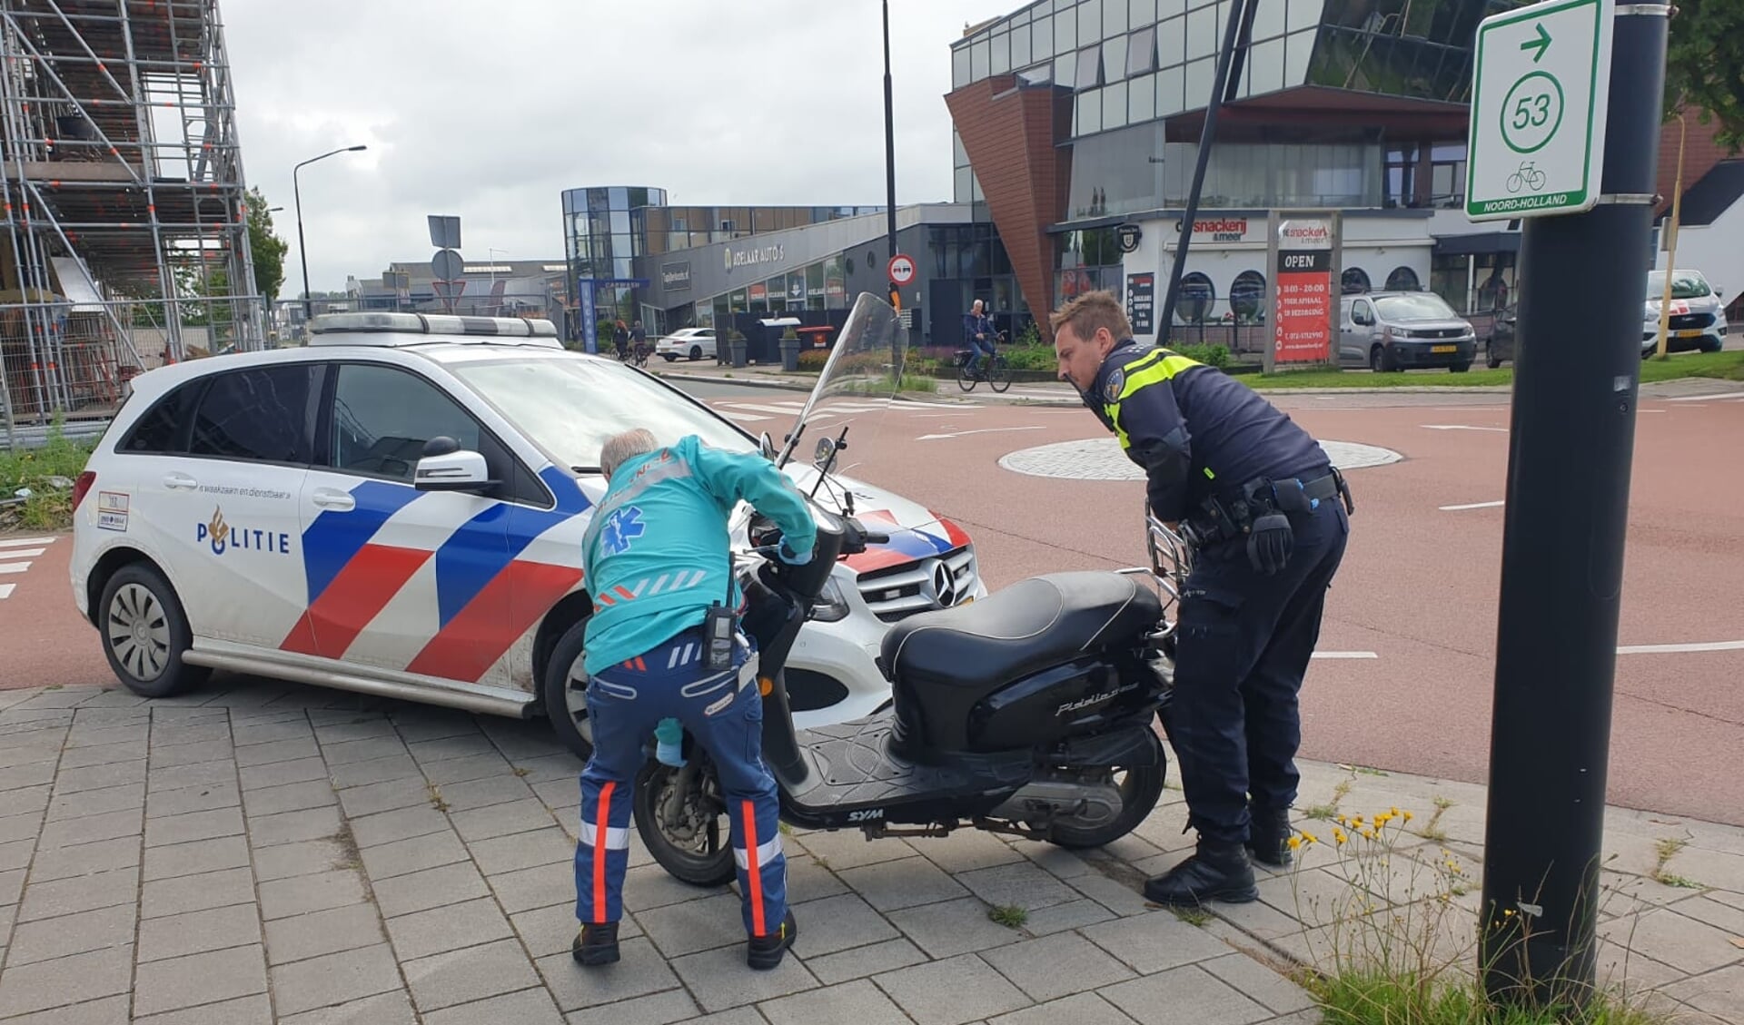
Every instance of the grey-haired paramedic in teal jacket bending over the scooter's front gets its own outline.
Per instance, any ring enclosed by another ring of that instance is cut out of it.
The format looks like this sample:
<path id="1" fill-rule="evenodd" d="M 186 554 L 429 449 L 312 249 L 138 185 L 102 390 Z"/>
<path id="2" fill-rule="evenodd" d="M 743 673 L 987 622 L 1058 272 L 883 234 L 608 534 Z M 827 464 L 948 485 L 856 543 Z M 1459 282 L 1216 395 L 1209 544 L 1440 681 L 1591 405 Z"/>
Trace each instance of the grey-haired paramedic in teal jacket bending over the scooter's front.
<path id="1" fill-rule="evenodd" d="M 727 612 L 738 608 L 727 516 L 741 500 L 769 516 L 788 563 L 809 561 L 816 523 L 773 462 L 708 448 L 696 436 L 659 448 L 647 431 L 617 434 L 602 446 L 600 469 L 610 485 L 582 542 L 595 601 L 582 662 L 593 758 L 581 774 L 581 933 L 570 954 L 584 966 L 617 961 L 630 791 L 644 739 L 670 716 L 720 776 L 745 899 L 746 962 L 776 967 L 797 926 L 787 908 L 774 777 L 762 762 L 757 655 Z M 713 648 L 720 624 L 724 643 Z"/>

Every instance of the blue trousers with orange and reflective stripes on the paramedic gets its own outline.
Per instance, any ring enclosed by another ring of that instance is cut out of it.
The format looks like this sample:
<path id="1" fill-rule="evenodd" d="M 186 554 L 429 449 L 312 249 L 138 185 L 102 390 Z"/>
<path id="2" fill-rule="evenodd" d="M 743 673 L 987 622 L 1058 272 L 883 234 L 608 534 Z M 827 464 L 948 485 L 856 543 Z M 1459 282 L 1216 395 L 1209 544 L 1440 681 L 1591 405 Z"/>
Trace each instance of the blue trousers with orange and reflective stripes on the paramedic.
<path id="1" fill-rule="evenodd" d="M 715 762 L 745 894 L 745 931 L 767 936 L 787 917 L 787 858 L 774 776 L 762 762 L 757 662 L 741 635 L 732 668 L 710 673 L 699 628 L 588 682 L 593 758 L 581 772 L 576 919 L 616 922 L 624 915 L 631 788 L 644 762 L 642 744 L 666 716 L 682 722 Z"/>

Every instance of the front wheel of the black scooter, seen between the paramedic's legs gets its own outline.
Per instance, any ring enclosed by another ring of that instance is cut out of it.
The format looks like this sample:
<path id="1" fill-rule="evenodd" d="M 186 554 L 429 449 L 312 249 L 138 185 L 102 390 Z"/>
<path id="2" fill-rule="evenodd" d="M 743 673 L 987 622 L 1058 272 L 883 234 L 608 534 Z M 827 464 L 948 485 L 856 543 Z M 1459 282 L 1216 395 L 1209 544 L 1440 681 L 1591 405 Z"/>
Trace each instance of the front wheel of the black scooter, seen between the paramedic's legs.
<path id="1" fill-rule="evenodd" d="M 732 838 L 727 805 L 713 764 L 698 753 L 675 769 L 649 760 L 637 774 L 637 833 L 668 875 L 691 886 L 732 882 Z"/>

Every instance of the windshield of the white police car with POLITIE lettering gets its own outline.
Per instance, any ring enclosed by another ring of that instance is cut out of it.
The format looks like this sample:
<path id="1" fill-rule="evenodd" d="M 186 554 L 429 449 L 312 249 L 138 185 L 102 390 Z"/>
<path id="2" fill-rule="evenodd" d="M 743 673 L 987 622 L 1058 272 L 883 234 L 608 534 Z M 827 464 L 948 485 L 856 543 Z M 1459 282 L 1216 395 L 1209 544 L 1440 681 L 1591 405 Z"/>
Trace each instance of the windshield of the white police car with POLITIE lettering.
<path id="1" fill-rule="evenodd" d="M 633 427 L 647 427 L 661 445 L 696 434 L 713 448 L 757 451 L 757 443 L 727 420 L 612 361 L 462 361 L 450 370 L 534 445 L 576 471 L 596 471 L 605 439 Z"/>

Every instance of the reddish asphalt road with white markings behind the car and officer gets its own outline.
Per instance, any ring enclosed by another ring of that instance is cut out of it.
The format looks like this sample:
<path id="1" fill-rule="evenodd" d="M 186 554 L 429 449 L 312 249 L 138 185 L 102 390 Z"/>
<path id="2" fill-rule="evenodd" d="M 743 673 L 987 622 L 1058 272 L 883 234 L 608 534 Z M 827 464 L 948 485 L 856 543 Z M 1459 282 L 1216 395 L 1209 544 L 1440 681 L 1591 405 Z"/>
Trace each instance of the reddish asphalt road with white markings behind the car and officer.
<path id="1" fill-rule="evenodd" d="M 780 436 L 800 392 L 691 385 Z M 1402 458 L 1352 471 L 1357 516 L 1303 690 L 1303 755 L 1482 783 L 1488 772 L 1507 474 L 1507 396 L 1338 394 L 1278 403 L 1322 441 Z M 1631 488 L 1610 800 L 1744 825 L 1744 394 L 1641 404 Z M 1107 445 L 1083 410 L 903 404 L 860 415 L 848 472 L 956 519 L 992 587 L 1146 561 L 1142 485 L 1013 472 L 1032 446 Z M 1578 453 L 1573 453 L 1578 457 Z M 1716 458 L 1718 457 L 1718 458 Z M 1734 460 L 1735 462 L 1735 460 Z M 1071 460 L 1066 460 L 1071 465 Z M 1721 472 L 1713 472 L 1721 469 Z M 21 540 L 0 539 L 3 540 Z M 66 537 L 0 577 L 0 687 L 113 683 L 73 612 Z M 0 587 L 3 589 L 3 587 Z M 1549 657 L 1554 671 L 1554 652 Z M 1556 723 L 1545 723 L 1556 729 Z"/>

